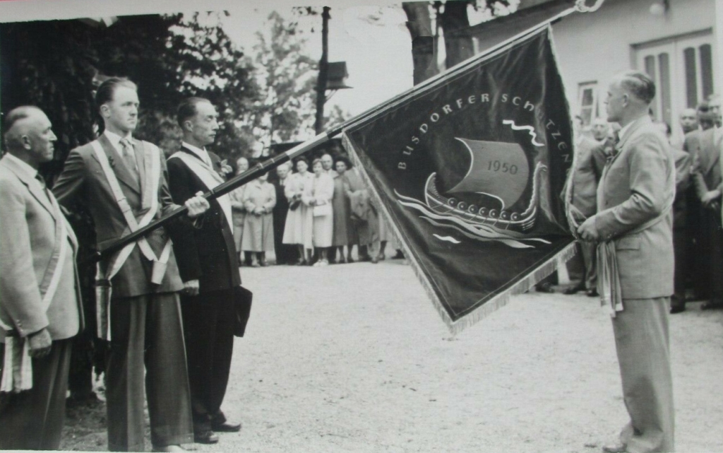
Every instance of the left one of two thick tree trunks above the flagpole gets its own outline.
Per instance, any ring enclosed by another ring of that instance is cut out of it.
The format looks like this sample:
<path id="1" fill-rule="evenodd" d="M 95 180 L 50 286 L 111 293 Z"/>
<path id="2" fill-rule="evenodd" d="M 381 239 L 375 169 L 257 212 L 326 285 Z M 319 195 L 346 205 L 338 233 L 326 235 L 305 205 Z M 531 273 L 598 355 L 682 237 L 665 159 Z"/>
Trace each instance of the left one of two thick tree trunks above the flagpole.
<path id="1" fill-rule="evenodd" d="M 439 74 L 437 52 L 432 33 L 432 19 L 429 17 L 427 1 L 402 3 L 407 16 L 407 28 L 411 34 L 411 56 L 414 62 L 414 85 Z"/>

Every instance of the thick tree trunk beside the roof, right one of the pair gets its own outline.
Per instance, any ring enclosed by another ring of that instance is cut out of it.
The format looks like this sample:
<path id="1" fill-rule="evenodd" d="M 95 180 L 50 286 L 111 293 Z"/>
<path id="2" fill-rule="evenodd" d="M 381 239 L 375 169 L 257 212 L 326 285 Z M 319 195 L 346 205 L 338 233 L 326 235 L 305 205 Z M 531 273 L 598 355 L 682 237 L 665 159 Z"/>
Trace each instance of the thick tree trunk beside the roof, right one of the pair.
<path id="1" fill-rule="evenodd" d="M 474 46 L 469 33 L 468 5 L 469 1 L 448 0 L 445 3 L 445 11 L 437 17 L 445 36 L 447 68 L 474 55 Z"/>

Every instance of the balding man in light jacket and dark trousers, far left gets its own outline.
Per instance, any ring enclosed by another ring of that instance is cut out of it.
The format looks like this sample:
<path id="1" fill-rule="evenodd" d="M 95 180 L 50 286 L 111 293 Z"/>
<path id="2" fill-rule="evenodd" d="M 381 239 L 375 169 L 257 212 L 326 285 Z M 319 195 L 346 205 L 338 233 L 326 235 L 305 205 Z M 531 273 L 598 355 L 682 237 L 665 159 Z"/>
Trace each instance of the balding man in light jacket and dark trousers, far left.
<path id="1" fill-rule="evenodd" d="M 53 158 L 50 120 L 36 107 L 22 106 L 9 112 L 4 130 L 0 449 L 54 450 L 65 418 L 72 337 L 83 326 L 77 241 L 38 174 L 38 165 Z"/>

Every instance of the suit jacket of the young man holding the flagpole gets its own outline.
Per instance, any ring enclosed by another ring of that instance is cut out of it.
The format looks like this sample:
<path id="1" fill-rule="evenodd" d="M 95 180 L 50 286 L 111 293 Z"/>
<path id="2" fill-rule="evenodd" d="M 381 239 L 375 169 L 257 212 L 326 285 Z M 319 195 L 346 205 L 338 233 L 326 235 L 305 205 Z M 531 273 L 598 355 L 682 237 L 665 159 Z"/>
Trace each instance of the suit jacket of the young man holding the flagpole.
<path id="1" fill-rule="evenodd" d="M 145 190 L 145 187 L 142 186 L 145 185 L 145 172 L 150 169 L 150 161 L 147 161 L 150 155 L 144 155 L 140 151 L 147 149 L 146 147 L 150 146 L 150 143 L 133 140 L 140 172 L 139 182 L 132 177 L 131 170 L 128 169 L 123 159 L 115 151 L 106 135 L 100 135 L 98 141 L 106 156 L 108 156 L 111 169 L 119 180 L 119 185 L 129 206 L 131 206 L 136 218 L 140 220 L 146 212 L 142 208 L 142 193 Z M 171 200 L 167 180 L 166 162 L 161 152 L 158 213 L 155 214 L 154 220 L 179 207 Z M 79 204 L 82 204 L 90 211 L 95 224 L 96 243 L 99 249 L 110 245 L 130 231 L 90 143 L 70 151 L 63 172 L 56 181 L 53 191 L 60 203 L 70 211 L 76 209 Z M 167 227 L 156 229 L 146 235 L 146 240 L 157 256 L 161 254 L 161 250 L 163 250 L 163 246 L 166 245 L 166 240 L 169 237 L 179 240 L 179 227 L 183 224 L 190 224 L 187 216 L 181 216 L 177 221 L 168 224 Z M 101 265 L 107 266 L 107 262 L 101 263 Z M 151 283 L 152 270 L 153 263 L 145 258 L 138 246 L 134 247 L 118 274 L 111 280 L 113 297 L 135 297 L 160 292 L 175 292 L 183 289 L 173 252 L 171 252 L 171 257 L 168 258 L 168 268 L 161 284 Z"/>

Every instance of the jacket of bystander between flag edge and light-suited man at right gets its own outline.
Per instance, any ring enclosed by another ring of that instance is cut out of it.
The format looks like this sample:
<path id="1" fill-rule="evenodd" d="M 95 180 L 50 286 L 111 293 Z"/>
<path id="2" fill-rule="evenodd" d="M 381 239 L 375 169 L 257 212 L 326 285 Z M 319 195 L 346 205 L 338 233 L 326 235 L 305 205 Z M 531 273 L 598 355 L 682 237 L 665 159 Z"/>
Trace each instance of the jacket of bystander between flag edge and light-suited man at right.
<path id="1" fill-rule="evenodd" d="M 597 185 L 605 166 L 605 156 L 602 143 L 589 137 L 583 137 L 575 151 L 576 168 L 571 179 L 570 195 L 573 206 L 589 217 L 597 212 Z"/>

